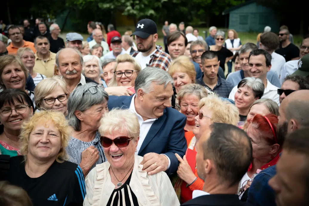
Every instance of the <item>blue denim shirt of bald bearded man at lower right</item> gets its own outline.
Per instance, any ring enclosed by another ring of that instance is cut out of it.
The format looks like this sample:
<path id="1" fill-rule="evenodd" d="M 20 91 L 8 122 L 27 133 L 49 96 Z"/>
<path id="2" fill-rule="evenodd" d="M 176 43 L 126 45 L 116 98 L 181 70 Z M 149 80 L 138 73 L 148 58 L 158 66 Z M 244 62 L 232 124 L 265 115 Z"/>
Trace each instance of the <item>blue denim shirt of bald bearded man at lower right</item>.
<path id="1" fill-rule="evenodd" d="M 273 206 L 276 205 L 275 192 L 268 185 L 269 179 L 276 174 L 276 165 L 271 166 L 254 178 L 248 191 L 247 203 L 253 206 Z"/>

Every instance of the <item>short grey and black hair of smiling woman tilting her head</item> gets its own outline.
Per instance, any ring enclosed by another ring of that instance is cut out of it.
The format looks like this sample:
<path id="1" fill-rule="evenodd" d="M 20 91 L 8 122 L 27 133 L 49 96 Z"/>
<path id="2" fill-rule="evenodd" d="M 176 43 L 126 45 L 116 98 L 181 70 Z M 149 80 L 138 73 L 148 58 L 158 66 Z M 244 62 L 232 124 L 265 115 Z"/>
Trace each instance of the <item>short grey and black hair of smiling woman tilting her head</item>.
<path id="1" fill-rule="evenodd" d="M 265 86 L 263 81 L 259 78 L 246 77 L 238 83 L 237 88 L 239 87 L 248 87 L 251 89 L 253 91 L 254 98 L 258 97 L 261 99 L 264 95 Z"/>

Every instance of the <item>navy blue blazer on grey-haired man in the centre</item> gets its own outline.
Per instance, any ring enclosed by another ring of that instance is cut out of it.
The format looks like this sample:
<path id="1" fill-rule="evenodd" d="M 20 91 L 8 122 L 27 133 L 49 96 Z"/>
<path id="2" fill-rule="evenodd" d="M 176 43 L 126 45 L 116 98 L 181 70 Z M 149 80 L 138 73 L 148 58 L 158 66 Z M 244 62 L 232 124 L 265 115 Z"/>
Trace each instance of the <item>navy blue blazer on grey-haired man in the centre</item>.
<path id="1" fill-rule="evenodd" d="M 109 96 L 108 109 L 120 107 L 129 109 L 132 96 Z M 187 150 L 187 141 L 184 138 L 184 126 L 186 125 L 186 116 L 179 111 L 167 107 L 163 115 L 151 125 L 138 155 L 144 156 L 147 153 L 154 152 L 165 154 L 171 161 L 170 168 L 166 171 L 171 175 L 177 171 L 178 160 L 175 153 L 181 157 Z"/>

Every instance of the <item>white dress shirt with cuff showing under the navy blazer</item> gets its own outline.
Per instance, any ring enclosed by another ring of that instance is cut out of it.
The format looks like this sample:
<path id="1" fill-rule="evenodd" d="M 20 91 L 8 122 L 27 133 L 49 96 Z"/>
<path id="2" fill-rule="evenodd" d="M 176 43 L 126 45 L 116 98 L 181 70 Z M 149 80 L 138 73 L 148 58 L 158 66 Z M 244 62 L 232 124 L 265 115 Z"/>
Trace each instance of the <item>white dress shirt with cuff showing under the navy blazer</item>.
<path id="1" fill-rule="evenodd" d="M 152 119 L 148 119 L 148 120 L 144 121 L 142 116 L 140 116 L 135 110 L 134 99 L 135 99 L 135 95 L 133 95 L 133 97 L 132 97 L 129 109 L 135 112 L 137 119 L 138 119 L 139 126 L 140 126 L 139 140 L 138 140 L 138 144 L 137 144 L 137 148 L 136 148 L 136 152 L 135 152 L 135 154 L 138 155 L 138 152 L 141 149 L 143 141 L 145 140 L 145 138 L 146 138 L 146 136 L 147 136 L 147 134 L 150 130 L 150 127 L 155 122 L 155 120 L 157 120 L 158 118 L 152 118 Z M 163 154 L 163 155 L 165 155 L 165 154 Z M 165 156 L 167 157 L 167 155 L 165 155 Z M 168 166 L 167 166 L 167 170 L 168 170 L 171 166 L 171 160 L 168 157 L 167 157 L 167 159 L 168 159 Z"/>

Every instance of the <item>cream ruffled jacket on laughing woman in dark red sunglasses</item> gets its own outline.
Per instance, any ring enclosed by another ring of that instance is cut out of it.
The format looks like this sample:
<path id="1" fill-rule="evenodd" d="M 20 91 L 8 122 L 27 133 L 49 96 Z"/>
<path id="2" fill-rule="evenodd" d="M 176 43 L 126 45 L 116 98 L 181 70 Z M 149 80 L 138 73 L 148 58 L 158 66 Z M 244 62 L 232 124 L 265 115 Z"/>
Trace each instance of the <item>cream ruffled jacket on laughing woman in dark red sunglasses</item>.
<path id="1" fill-rule="evenodd" d="M 129 186 L 137 197 L 140 206 L 178 206 L 180 205 L 174 188 L 165 172 L 148 175 L 140 165 L 143 158 L 135 155 L 134 167 Z M 87 175 L 84 206 L 106 206 L 115 189 L 108 172 L 110 164 L 97 165 Z"/>

